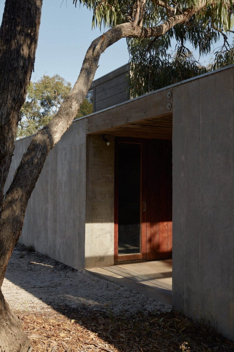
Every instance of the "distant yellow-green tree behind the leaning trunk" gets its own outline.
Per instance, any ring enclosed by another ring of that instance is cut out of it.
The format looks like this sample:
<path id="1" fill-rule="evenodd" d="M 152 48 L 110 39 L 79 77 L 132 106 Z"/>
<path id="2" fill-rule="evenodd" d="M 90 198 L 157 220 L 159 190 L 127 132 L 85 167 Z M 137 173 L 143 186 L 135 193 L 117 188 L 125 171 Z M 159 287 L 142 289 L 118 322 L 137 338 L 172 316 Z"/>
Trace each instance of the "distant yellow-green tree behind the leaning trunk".
<path id="1" fill-rule="evenodd" d="M 37 82 L 30 82 L 27 99 L 20 111 L 16 138 L 23 138 L 38 132 L 58 112 L 72 85 L 59 75 L 44 75 Z M 84 99 L 76 118 L 91 114 L 93 104 Z"/>

